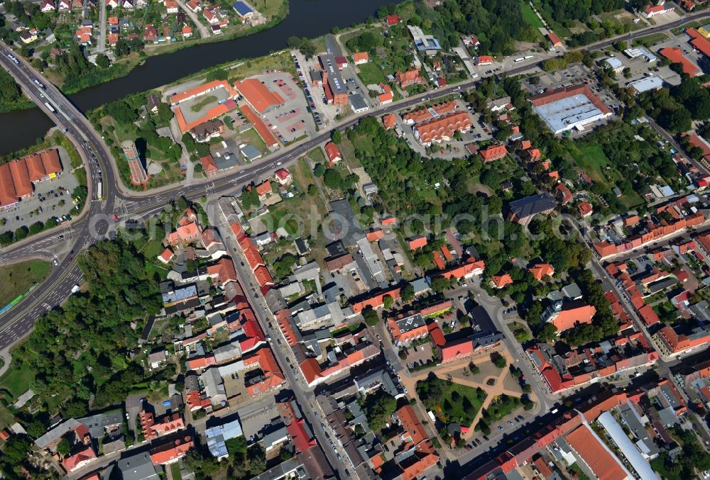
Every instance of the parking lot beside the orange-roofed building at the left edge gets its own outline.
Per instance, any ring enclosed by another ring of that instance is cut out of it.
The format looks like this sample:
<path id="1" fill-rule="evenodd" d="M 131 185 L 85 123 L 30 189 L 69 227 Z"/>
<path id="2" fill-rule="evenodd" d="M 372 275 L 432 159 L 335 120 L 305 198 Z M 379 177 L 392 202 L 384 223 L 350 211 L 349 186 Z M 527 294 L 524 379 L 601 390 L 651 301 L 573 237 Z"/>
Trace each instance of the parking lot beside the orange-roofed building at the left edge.
<path id="1" fill-rule="evenodd" d="M 0 219 L 6 222 L 1 230 L 14 231 L 38 221 L 46 223 L 50 218 L 67 219 L 65 216 L 74 208 L 71 194 L 79 182 L 70 170 L 69 157 L 62 147 L 59 147 L 59 157 L 63 171 L 58 177 L 35 183 L 33 195 L 0 210 Z"/>

